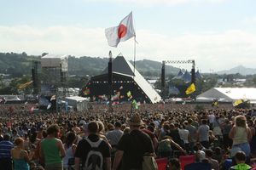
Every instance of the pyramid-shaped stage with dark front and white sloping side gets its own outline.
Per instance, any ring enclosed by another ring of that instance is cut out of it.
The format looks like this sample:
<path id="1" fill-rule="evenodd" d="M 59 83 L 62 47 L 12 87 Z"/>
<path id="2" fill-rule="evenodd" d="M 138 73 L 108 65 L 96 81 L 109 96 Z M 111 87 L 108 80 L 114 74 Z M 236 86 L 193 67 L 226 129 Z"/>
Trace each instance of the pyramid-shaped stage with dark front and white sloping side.
<path id="1" fill-rule="evenodd" d="M 135 69 L 133 65 L 127 61 L 121 54 L 113 59 L 112 72 L 112 100 L 127 101 L 136 99 L 140 102 L 157 103 L 161 100 L 160 95 L 152 88 L 152 86 L 143 78 L 143 76 Z M 130 93 L 131 96 L 130 96 Z M 109 94 L 108 88 L 108 66 L 102 71 L 101 75 L 91 77 L 90 82 L 83 88 L 84 97 L 90 99 L 106 99 Z"/>

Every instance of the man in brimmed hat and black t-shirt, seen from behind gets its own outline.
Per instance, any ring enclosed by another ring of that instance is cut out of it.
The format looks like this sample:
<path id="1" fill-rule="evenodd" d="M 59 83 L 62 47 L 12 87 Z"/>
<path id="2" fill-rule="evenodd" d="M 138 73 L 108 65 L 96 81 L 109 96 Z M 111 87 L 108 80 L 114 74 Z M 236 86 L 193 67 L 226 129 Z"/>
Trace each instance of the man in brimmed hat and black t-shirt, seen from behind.
<path id="1" fill-rule="evenodd" d="M 139 115 L 134 114 L 128 121 L 130 133 L 125 133 L 117 145 L 117 151 L 113 160 L 113 170 L 121 163 L 122 170 L 142 169 L 143 155 L 154 154 L 154 147 L 148 134 L 140 130 L 143 125 Z"/>

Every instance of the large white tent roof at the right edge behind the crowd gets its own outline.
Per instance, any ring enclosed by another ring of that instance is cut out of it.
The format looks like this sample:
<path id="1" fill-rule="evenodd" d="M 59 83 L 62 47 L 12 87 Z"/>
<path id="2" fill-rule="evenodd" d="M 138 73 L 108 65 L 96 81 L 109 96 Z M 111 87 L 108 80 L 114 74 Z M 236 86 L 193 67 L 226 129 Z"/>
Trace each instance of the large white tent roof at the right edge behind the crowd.
<path id="1" fill-rule="evenodd" d="M 249 99 L 256 101 L 256 88 L 211 88 L 196 97 L 197 100 L 212 100 L 219 98 L 223 101 Z"/>

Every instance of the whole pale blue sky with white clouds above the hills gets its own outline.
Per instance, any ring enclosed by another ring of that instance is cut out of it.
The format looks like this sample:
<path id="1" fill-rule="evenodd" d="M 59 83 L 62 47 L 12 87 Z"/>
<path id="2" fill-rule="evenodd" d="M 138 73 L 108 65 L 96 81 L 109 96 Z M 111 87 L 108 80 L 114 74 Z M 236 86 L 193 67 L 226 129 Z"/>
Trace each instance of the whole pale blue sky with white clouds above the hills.
<path id="1" fill-rule="evenodd" d="M 132 10 L 137 59 L 195 59 L 201 71 L 256 63 L 255 0 L 0 0 L 0 51 L 133 59 L 104 29 Z M 184 65 L 176 65 L 185 67 Z"/>

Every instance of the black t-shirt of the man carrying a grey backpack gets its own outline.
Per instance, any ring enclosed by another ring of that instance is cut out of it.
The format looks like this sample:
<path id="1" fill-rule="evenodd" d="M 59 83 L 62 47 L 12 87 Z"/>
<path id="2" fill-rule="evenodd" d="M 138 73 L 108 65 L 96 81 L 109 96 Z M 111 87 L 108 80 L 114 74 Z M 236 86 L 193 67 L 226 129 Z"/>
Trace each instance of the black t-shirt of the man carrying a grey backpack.
<path id="1" fill-rule="evenodd" d="M 97 136 L 96 134 L 90 134 L 88 136 L 88 139 L 90 139 L 91 142 L 96 142 L 99 140 L 99 136 Z M 85 139 L 79 141 L 78 147 L 75 152 L 75 157 L 79 157 L 82 160 L 83 167 L 90 148 L 90 144 Z M 101 144 L 99 145 L 99 151 L 102 153 L 103 159 L 110 157 L 110 149 L 108 147 L 108 144 L 104 140 L 102 140 Z"/>

